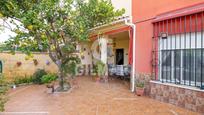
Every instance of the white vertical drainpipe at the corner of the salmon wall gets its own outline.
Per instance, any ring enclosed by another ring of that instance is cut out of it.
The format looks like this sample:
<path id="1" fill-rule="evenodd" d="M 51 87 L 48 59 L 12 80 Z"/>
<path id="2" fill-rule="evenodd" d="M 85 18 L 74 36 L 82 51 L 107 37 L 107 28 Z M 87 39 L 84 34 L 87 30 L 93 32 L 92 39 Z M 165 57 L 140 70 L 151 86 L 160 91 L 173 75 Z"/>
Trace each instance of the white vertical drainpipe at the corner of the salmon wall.
<path id="1" fill-rule="evenodd" d="M 133 23 L 133 18 L 131 17 L 130 18 L 130 22 L 128 22 L 128 19 L 125 19 L 125 24 L 128 25 L 128 26 L 131 26 L 133 28 L 133 65 L 132 65 L 132 79 L 131 79 L 131 82 L 132 82 L 132 87 L 131 87 L 131 91 L 134 92 L 135 91 L 135 71 L 136 71 L 136 67 L 135 67 L 135 56 L 136 56 L 136 53 L 135 53 L 135 46 L 136 46 L 136 25 Z"/>

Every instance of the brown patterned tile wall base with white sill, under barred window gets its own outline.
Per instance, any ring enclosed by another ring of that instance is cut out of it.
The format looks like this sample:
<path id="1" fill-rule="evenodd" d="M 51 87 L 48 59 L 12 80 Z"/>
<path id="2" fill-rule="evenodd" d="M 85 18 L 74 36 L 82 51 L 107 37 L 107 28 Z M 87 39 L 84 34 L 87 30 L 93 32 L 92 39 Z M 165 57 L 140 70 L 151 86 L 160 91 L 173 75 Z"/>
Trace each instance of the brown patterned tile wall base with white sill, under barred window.
<path id="1" fill-rule="evenodd" d="M 150 81 L 150 87 L 153 99 L 204 113 L 204 90 L 157 81 Z"/>

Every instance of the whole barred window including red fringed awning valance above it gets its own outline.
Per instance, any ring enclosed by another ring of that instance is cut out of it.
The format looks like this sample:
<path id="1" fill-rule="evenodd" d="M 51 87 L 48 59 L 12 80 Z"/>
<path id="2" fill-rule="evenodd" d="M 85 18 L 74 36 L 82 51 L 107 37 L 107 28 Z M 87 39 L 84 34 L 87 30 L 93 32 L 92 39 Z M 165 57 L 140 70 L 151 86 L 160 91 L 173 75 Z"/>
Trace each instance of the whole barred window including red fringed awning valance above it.
<path id="1" fill-rule="evenodd" d="M 203 89 L 204 12 L 153 24 L 155 80 Z"/>

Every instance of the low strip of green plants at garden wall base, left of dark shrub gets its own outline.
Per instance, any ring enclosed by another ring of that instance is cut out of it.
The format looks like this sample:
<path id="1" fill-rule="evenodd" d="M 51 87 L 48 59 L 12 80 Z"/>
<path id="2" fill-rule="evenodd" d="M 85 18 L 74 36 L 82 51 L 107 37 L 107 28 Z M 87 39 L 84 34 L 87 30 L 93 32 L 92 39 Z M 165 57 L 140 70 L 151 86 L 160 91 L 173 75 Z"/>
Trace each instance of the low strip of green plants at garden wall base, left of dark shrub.
<path id="1" fill-rule="evenodd" d="M 32 77 L 15 77 L 14 79 L 14 84 L 15 85 L 19 85 L 19 84 L 24 84 L 24 83 L 32 83 L 33 82 L 33 78 Z"/>

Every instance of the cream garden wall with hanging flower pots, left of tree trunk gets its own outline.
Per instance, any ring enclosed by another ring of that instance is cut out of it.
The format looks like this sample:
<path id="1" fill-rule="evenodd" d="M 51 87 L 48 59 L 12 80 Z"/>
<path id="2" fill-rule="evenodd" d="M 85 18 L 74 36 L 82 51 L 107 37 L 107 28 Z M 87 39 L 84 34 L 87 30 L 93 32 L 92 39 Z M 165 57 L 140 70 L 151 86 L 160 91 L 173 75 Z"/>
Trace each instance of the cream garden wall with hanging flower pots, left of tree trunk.
<path id="1" fill-rule="evenodd" d="M 20 52 L 15 55 L 2 52 L 0 61 L 2 62 L 2 73 L 8 80 L 30 76 L 37 69 L 44 69 L 51 73 L 56 73 L 58 70 L 47 53 L 33 53 L 33 58 L 27 59 L 27 56 Z"/>

